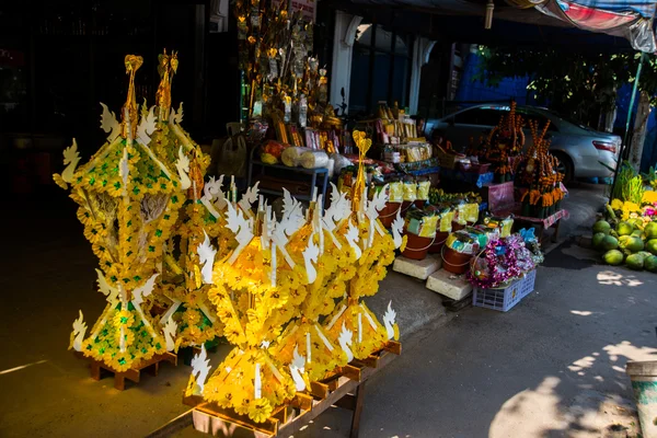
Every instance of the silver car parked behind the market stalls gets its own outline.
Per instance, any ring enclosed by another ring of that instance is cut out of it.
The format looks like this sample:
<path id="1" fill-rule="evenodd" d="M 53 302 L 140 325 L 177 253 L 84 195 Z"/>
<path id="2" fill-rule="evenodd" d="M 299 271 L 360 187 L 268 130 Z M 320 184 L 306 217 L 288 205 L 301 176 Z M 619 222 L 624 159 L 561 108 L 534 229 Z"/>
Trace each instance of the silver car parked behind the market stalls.
<path id="1" fill-rule="evenodd" d="M 425 130 L 429 137 L 434 131 L 440 132 L 445 139 L 451 141 L 454 150 L 462 152 L 471 139 L 479 141 L 480 137 L 486 136 L 509 111 L 508 104 L 475 105 L 439 120 L 427 120 Z M 526 120 L 539 122 L 541 128 L 550 120 L 550 152 L 560 160 L 560 171 L 565 174 L 565 181 L 612 176 L 613 172 L 600 162 L 611 169 L 615 166 L 621 149 L 619 136 L 576 125 L 554 112 L 535 106 L 518 106 L 516 113 Z M 532 138 L 528 127 L 525 128 L 525 147 L 529 148 Z"/>

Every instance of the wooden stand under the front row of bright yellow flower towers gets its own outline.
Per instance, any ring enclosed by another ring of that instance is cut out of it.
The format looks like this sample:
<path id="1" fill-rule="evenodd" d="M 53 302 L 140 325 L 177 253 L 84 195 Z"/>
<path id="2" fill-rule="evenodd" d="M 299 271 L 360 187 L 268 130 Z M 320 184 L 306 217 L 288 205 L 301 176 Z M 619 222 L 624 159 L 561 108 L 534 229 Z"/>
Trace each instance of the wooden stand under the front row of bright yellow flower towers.
<path id="1" fill-rule="evenodd" d="M 297 393 L 293 400 L 274 410 L 264 423 L 254 423 L 245 415 L 205 402 L 199 396 L 185 397 L 183 402 L 194 406 L 191 412 L 194 428 L 215 437 L 287 438 L 331 406 L 337 406 L 354 412 L 349 437 L 356 438 L 365 402 L 365 383 L 401 353 L 402 344 L 388 342 L 380 351 L 341 367 L 328 379 L 312 382 L 306 392 Z"/>

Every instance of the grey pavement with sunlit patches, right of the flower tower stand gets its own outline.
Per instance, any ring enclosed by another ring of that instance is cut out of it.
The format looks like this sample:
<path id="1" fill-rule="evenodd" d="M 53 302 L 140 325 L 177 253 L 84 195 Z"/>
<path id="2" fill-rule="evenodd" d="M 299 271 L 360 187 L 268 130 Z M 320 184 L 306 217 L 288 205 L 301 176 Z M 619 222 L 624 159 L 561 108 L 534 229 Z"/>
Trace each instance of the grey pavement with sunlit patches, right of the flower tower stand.
<path id="1" fill-rule="evenodd" d="M 636 437 L 627 360 L 655 360 L 657 275 L 564 245 L 508 313 L 474 308 L 368 382 L 361 437 Z M 299 437 L 346 437 L 333 410 Z M 182 437 L 200 436 L 193 431 Z"/>

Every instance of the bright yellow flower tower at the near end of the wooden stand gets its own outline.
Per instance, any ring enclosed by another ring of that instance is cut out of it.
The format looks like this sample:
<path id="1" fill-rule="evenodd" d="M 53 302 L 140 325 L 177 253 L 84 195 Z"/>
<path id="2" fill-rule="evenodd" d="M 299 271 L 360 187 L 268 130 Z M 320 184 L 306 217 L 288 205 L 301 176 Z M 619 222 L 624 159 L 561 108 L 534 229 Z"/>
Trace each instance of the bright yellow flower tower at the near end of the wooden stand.
<path id="1" fill-rule="evenodd" d="M 254 220 L 237 203 L 227 206 L 227 227 L 238 246 L 215 264 L 209 298 L 235 347 L 207 383 L 193 376 L 187 391 L 257 423 L 295 395 L 292 377 L 267 348 L 297 313 L 308 283 L 303 267 L 288 265 L 289 254 L 277 249 L 269 216 L 262 200 Z"/>

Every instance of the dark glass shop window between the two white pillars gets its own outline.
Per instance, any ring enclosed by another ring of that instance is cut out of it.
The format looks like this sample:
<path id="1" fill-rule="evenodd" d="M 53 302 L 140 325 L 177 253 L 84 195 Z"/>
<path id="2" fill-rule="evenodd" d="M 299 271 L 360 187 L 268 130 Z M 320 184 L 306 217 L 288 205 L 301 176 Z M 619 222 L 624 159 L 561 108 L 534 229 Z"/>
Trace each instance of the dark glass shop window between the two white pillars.
<path id="1" fill-rule="evenodd" d="M 351 58 L 349 114 L 370 114 L 378 102 L 408 104 L 410 36 L 371 23 L 358 26 Z"/>

